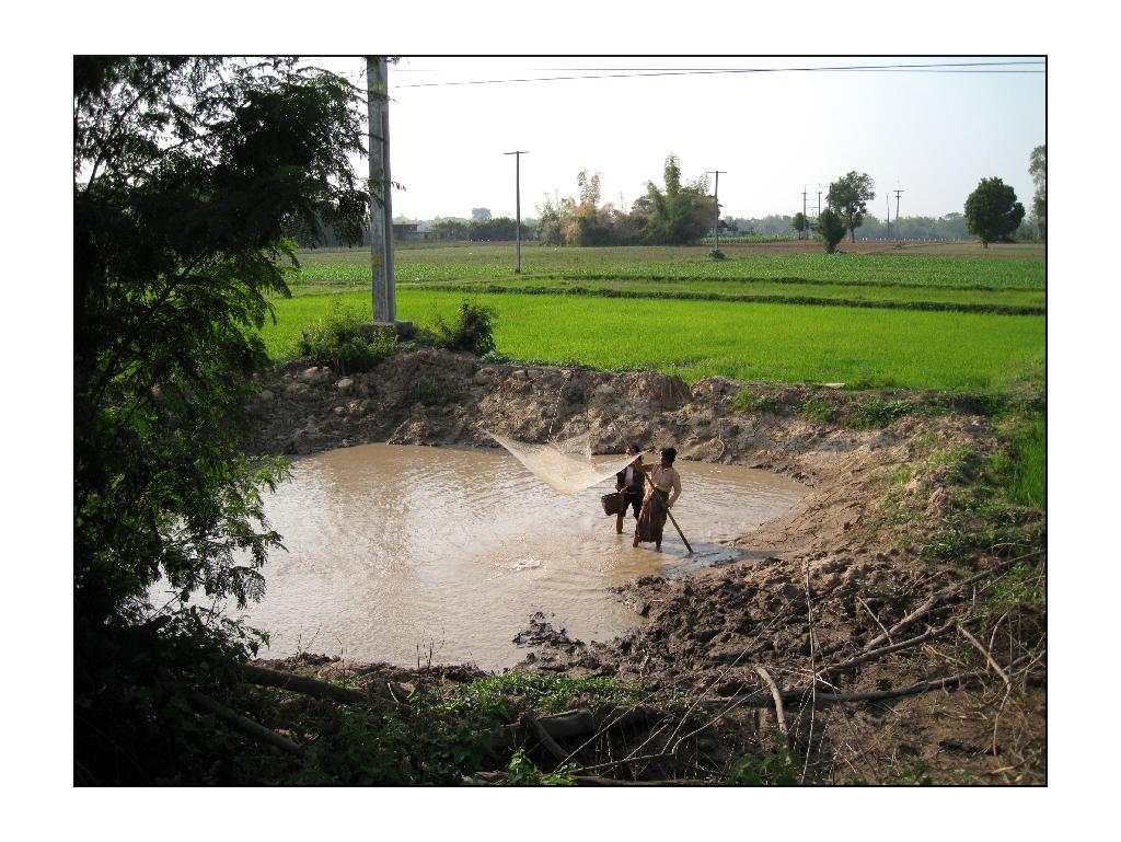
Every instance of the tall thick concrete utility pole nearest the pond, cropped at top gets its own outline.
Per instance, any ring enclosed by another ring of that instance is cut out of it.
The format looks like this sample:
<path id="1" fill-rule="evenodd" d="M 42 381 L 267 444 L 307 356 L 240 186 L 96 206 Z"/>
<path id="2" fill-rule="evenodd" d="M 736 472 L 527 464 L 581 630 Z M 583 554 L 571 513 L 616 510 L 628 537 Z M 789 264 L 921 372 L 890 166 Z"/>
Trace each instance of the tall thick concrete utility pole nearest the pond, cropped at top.
<path id="1" fill-rule="evenodd" d="M 393 284 L 393 210 L 389 185 L 389 72 L 385 56 L 365 58 L 370 114 L 370 265 L 373 269 L 373 321 L 397 321 Z"/>

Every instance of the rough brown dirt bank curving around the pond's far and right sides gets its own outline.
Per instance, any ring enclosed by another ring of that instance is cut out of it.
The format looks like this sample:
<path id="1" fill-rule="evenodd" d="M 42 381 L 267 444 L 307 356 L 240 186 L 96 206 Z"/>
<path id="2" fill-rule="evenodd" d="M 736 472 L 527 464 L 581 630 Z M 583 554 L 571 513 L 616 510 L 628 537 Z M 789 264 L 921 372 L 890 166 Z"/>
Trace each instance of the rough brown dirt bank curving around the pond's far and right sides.
<path id="1" fill-rule="evenodd" d="M 784 716 L 809 779 L 1045 780 L 1041 609 L 986 613 L 1003 608 L 990 598 L 1016 568 L 998 547 L 929 552 L 962 516 L 954 454 L 999 447 L 990 420 L 967 403 L 723 378 L 689 388 L 651 372 L 480 364 L 435 350 L 349 377 L 293 366 L 261 385 L 260 452 L 369 442 L 490 447 L 488 429 L 544 442 L 550 425 L 560 436 L 591 428 L 593 447 L 605 452 L 620 450 L 618 424 L 640 447 L 674 445 L 686 460 L 805 483 L 810 492 L 794 512 L 736 542 L 743 559 L 620 589 L 648 619 L 636 632 L 585 645 L 534 619 L 522 667 L 617 675 L 706 704 L 767 691 L 763 667 L 790 696 Z M 1015 518 L 1039 555 L 1043 513 Z M 895 695 L 904 690 L 911 692 Z M 763 744 L 776 710 L 758 698 L 749 706 Z"/>

